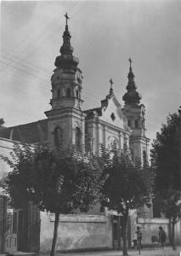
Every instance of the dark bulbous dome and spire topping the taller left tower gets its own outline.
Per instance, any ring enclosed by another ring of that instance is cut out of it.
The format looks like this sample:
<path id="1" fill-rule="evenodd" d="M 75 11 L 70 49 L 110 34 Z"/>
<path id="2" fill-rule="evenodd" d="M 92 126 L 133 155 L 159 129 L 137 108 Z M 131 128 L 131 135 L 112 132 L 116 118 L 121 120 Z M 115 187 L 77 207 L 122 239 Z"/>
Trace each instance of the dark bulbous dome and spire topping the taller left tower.
<path id="1" fill-rule="evenodd" d="M 71 33 L 69 32 L 69 28 L 67 25 L 67 20 L 69 19 L 68 15 L 65 14 L 66 25 L 65 32 L 63 34 L 63 45 L 59 49 L 61 55 L 56 57 L 54 62 L 55 67 L 63 68 L 66 72 L 76 73 L 76 67 L 78 65 L 79 60 L 72 55 L 73 47 L 71 46 Z"/>

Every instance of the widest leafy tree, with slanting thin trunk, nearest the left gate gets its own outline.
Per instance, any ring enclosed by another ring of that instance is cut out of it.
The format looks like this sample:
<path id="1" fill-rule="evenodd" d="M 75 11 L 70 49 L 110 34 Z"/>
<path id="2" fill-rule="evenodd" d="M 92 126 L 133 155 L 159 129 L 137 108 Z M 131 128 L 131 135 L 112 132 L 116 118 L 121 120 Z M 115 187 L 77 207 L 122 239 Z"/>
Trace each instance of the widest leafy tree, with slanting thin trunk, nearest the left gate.
<path id="1" fill-rule="evenodd" d="M 11 167 L 4 191 L 13 207 L 24 207 L 33 201 L 42 211 L 54 212 L 54 238 L 57 240 L 59 214 L 76 209 L 88 212 L 99 198 L 101 169 L 94 157 L 76 154 L 74 148 L 53 150 L 48 147 L 14 144 L 11 159 L 1 158 Z"/>

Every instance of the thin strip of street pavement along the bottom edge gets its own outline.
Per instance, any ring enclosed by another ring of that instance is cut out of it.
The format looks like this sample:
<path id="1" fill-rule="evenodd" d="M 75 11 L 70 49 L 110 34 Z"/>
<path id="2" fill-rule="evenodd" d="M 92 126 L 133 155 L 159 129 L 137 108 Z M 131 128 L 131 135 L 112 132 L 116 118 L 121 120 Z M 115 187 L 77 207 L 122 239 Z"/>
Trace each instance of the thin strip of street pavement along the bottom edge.
<path id="1" fill-rule="evenodd" d="M 173 251 L 171 247 L 143 249 L 141 256 L 181 256 L 181 247 L 177 248 L 177 251 Z M 128 250 L 129 256 L 139 256 L 139 251 Z M 47 256 L 47 255 L 46 255 Z M 122 256 L 122 250 L 119 251 L 105 251 L 105 252 L 86 252 L 86 253 L 56 253 L 55 256 Z"/>

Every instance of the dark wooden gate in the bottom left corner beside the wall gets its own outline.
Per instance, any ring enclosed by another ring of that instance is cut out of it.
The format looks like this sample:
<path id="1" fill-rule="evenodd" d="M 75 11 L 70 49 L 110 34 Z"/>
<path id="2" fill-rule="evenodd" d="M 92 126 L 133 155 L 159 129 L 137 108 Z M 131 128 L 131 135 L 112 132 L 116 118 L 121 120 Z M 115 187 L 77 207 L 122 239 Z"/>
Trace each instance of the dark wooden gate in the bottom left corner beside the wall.
<path id="1" fill-rule="evenodd" d="M 40 212 L 27 202 L 24 209 L 7 209 L 0 196 L 0 253 L 38 252 L 40 248 Z"/>

